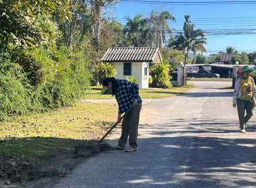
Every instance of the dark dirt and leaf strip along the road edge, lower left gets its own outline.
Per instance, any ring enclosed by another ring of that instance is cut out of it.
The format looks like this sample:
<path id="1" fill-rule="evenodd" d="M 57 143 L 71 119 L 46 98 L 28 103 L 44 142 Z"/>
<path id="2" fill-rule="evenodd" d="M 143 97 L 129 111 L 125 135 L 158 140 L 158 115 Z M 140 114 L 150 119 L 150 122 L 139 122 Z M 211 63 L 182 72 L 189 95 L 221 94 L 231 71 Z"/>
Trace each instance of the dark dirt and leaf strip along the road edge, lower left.
<path id="1" fill-rule="evenodd" d="M 11 155 L 1 156 L 0 187 L 37 187 L 38 183 L 38 186 L 42 187 L 40 181 L 32 183 L 30 181 L 45 177 L 65 177 L 86 158 L 110 149 L 110 145 L 105 142 L 88 140 L 70 150 L 59 151 L 55 156 L 44 160 L 31 160 Z M 51 179 L 48 181 L 50 183 Z M 44 186 L 46 186 L 45 183 Z"/>

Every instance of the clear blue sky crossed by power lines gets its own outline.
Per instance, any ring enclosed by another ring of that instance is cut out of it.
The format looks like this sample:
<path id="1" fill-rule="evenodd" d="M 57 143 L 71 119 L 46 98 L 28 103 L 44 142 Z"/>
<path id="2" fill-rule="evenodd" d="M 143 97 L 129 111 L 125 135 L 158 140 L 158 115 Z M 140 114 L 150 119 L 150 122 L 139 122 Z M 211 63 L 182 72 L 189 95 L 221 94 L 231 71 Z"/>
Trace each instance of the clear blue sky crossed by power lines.
<path id="1" fill-rule="evenodd" d="M 143 2 L 144 1 L 144 2 Z M 174 5 L 170 2 L 187 2 L 193 5 Z M 193 3 L 194 2 L 194 3 Z M 199 5 L 199 2 L 204 5 Z M 215 3 L 214 3 L 215 2 Z M 125 17 L 138 14 L 150 15 L 152 9 L 162 8 L 176 17 L 176 23 L 170 21 L 170 28 L 182 30 L 184 15 L 191 15 L 191 23 L 206 33 L 207 54 L 235 47 L 238 52 L 256 51 L 256 1 L 220 1 L 220 0 L 121 0 L 114 17 L 125 25 Z M 212 3 L 212 4 L 209 4 Z M 225 4 L 223 4 L 225 3 Z M 231 33 L 233 33 L 231 35 Z M 175 33 L 174 33 L 175 34 Z"/>

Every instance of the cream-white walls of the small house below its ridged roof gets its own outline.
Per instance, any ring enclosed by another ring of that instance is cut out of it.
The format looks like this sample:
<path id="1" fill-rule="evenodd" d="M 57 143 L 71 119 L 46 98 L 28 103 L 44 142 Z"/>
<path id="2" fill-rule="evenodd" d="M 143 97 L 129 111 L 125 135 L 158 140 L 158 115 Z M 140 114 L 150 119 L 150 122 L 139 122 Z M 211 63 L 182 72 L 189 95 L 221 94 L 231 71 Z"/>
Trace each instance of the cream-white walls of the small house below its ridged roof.
<path id="1" fill-rule="evenodd" d="M 148 88 L 148 77 L 149 77 L 149 62 L 132 62 L 131 63 L 131 75 L 126 76 L 123 75 L 123 62 L 114 62 L 114 67 L 117 71 L 117 75 L 115 75 L 116 79 L 125 79 L 127 77 L 134 77 L 137 79 L 137 84 L 139 85 L 139 89 Z M 147 76 L 144 77 L 144 67 L 147 67 L 148 73 Z"/>

